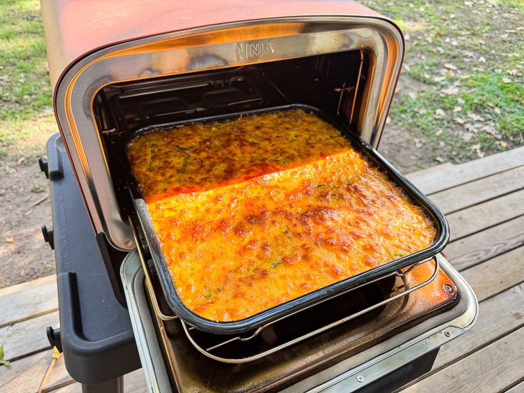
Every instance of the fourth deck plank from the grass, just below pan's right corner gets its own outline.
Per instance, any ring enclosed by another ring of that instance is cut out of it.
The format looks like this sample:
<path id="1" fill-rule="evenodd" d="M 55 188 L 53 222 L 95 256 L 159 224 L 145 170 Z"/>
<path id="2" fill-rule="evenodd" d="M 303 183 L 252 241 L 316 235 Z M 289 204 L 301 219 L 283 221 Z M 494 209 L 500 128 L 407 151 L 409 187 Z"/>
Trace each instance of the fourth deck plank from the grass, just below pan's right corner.
<path id="1" fill-rule="evenodd" d="M 446 246 L 444 256 L 459 272 L 524 246 L 524 216 Z"/>

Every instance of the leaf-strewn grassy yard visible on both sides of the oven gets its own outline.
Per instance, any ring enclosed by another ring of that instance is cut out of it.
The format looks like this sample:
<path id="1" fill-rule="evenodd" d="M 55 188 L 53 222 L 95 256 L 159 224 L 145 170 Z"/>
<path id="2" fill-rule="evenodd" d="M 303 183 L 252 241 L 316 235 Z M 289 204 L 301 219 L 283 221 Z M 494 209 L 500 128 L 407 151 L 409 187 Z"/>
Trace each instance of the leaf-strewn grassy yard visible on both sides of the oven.
<path id="1" fill-rule="evenodd" d="M 438 161 L 524 145 L 524 0 L 362 2 L 405 32 L 394 124 Z M 3 0 L 0 160 L 30 163 L 55 132 L 40 4 Z"/>

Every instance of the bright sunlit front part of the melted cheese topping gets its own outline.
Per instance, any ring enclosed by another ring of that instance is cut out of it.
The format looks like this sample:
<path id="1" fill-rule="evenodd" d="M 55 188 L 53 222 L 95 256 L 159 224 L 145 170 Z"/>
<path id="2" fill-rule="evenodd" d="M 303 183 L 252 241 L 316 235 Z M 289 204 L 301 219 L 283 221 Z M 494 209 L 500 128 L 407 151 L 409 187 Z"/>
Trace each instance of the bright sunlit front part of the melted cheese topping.
<path id="1" fill-rule="evenodd" d="M 435 228 L 351 147 L 147 203 L 182 302 L 240 320 L 432 244 Z"/>

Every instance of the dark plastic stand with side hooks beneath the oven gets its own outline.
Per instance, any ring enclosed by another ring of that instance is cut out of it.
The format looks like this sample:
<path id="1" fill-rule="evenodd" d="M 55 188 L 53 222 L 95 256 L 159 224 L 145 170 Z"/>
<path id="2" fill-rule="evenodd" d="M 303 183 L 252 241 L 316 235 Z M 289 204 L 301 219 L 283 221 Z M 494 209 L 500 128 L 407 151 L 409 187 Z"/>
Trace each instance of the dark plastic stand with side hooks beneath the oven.
<path id="1" fill-rule="evenodd" d="M 42 229 L 57 261 L 60 316 L 60 329 L 48 327 L 49 341 L 64 353 L 66 369 L 82 384 L 82 392 L 124 392 L 122 376 L 141 367 L 119 279 L 126 254 L 94 234 L 59 134 L 48 141 L 48 161 L 40 162 L 50 179 L 53 229 Z M 428 372 L 437 351 L 358 392 L 393 392 Z"/>

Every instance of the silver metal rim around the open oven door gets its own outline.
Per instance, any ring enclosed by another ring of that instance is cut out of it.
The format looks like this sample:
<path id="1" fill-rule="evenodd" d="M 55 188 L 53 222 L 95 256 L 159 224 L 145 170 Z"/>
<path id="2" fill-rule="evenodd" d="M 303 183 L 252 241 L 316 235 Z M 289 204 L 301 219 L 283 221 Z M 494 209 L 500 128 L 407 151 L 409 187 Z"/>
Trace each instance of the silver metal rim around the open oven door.
<path id="1" fill-rule="evenodd" d="M 467 332 L 476 321 L 479 304 L 470 286 L 449 262 L 442 255 L 437 255 L 437 258 L 440 267 L 458 288 L 460 302 L 455 308 L 463 310 L 460 316 L 445 321 L 445 316 L 451 313 L 448 311 L 442 316 L 433 318 L 437 325 L 434 324 L 425 332 L 413 336 L 413 331 L 420 329 L 420 325 L 408 329 L 354 357 L 305 378 L 282 392 L 354 392 Z M 130 253 L 124 261 L 121 276 L 147 385 L 150 392 L 170 392 L 162 383 L 167 381 L 168 377 L 160 350 L 154 348 L 155 341 L 157 348 L 159 344 L 154 333 L 150 311 L 139 307 L 139 304 L 145 304 L 145 295 L 144 274 L 137 251 Z M 442 318 L 440 323 L 438 323 L 439 318 Z M 426 322 L 421 325 L 428 326 Z M 412 336 L 412 338 L 403 340 L 405 336 Z"/>

